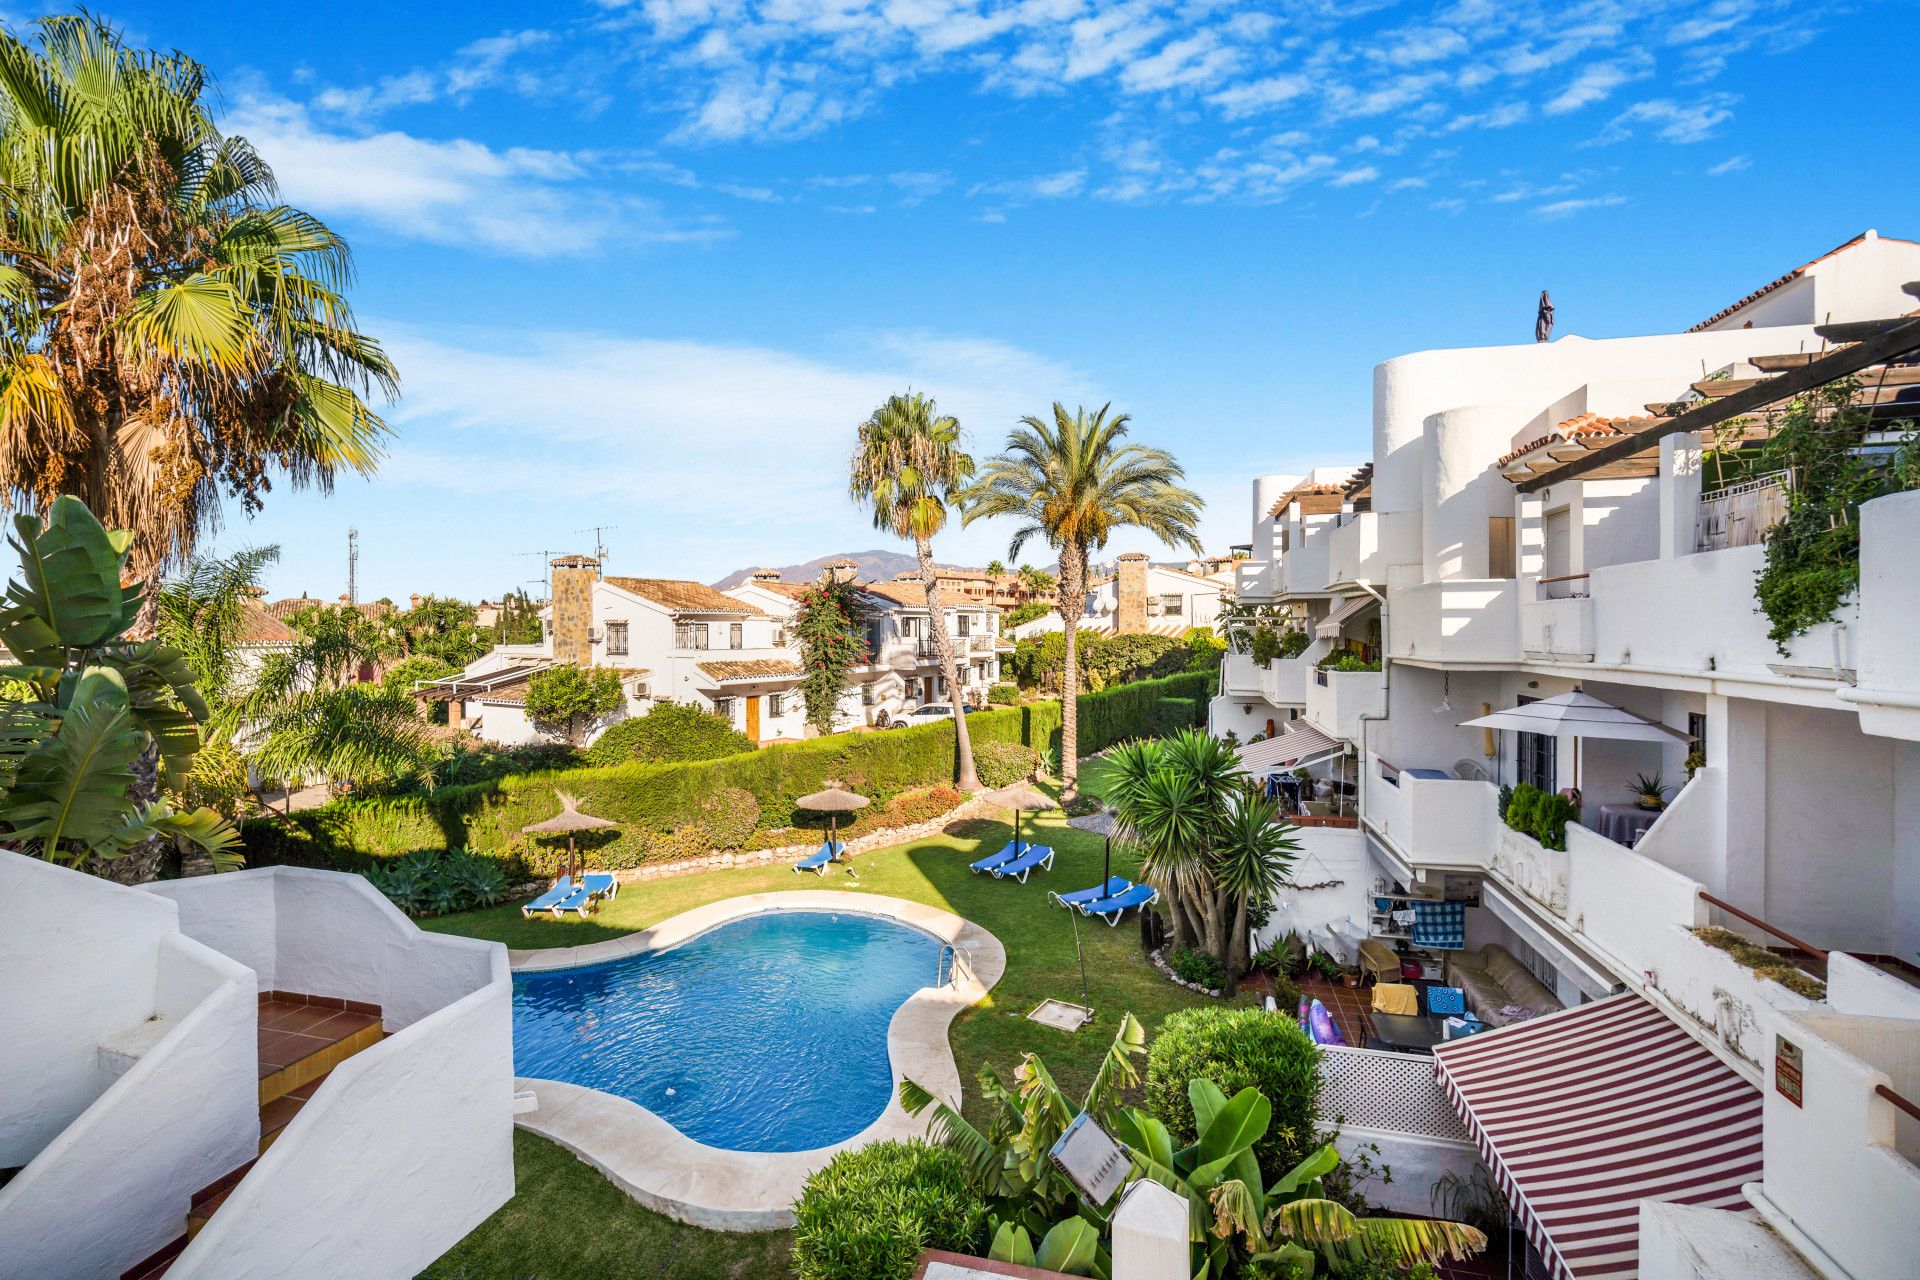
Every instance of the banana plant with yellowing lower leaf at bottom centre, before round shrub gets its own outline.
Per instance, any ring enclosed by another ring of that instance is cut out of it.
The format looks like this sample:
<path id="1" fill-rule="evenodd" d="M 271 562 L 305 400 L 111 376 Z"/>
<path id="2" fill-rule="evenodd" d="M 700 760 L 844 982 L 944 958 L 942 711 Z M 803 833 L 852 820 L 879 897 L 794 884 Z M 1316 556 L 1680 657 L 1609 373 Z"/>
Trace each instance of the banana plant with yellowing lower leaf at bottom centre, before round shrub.
<path id="1" fill-rule="evenodd" d="M 1194 1280 L 1219 1280 L 1246 1263 L 1275 1263 L 1311 1280 L 1319 1261 L 1380 1261 L 1398 1267 L 1465 1259 L 1486 1236 L 1463 1222 L 1365 1219 L 1327 1197 L 1323 1178 L 1340 1167 L 1332 1144 L 1308 1155 L 1271 1188 L 1261 1182 L 1254 1144 L 1267 1134 L 1273 1105 L 1254 1088 L 1233 1098 L 1213 1080 L 1192 1080 L 1192 1146 L 1175 1150 L 1156 1117 L 1127 1107 L 1119 1140 L 1133 1176 L 1160 1182 L 1187 1199 Z"/>

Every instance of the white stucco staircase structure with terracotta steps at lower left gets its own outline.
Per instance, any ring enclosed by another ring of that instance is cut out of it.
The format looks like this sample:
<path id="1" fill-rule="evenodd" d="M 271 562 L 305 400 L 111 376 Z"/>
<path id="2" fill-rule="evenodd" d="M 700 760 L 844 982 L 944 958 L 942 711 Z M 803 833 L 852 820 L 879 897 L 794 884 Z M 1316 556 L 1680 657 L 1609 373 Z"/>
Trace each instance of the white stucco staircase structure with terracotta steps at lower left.
<path id="1" fill-rule="evenodd" d="M 501 944 L 296 867 L 0 900 L 0 1272 L 411 1276 L 513 1196 Z"/>

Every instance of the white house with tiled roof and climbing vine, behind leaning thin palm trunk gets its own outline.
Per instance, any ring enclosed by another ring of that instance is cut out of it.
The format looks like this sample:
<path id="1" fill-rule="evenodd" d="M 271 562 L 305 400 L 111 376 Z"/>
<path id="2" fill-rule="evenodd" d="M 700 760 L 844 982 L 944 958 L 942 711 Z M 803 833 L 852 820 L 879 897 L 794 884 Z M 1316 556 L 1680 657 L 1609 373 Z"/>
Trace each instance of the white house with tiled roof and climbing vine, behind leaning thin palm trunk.
<path id="1" fill-rule="evenodd" d="M 851 560 L 841 560 L 824 572 L 851 576 L 852 570 Z M 851 672 L 852 687 L 841 699 L 833 727 L 885 725 L 916 706 L 947 702 L 950 695 L 933 647 L 933 612 L 920 580 L 902 576 L 854 585 L 868 618 L 868 660 Z M 1012 649 L 1000 639 L 1000 608 L 981 593 L 948 599 L 945 585 L 943 580 L 941 612 L 960 670 L 960 697 L 985 706 L 987 689 L 1000 679 L 1000 654 Z M 791 624 L 804 591 L 806 583 L 780 581 L 774 570 L 760 570 L 728 595 Z"/>

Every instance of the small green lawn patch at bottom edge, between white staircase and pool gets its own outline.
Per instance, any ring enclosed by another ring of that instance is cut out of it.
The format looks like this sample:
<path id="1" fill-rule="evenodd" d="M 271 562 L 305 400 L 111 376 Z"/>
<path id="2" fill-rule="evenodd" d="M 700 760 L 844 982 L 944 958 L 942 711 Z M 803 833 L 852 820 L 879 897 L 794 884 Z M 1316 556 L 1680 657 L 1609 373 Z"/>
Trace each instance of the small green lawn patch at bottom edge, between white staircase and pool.
<path id="1" fill-rule="evenodd" d="M 708 1232 L 641 1209 L 564 1148 L 513 1132 L 515 1196 L 422 1280 L 789 1280 L 789 1232 Z"/>

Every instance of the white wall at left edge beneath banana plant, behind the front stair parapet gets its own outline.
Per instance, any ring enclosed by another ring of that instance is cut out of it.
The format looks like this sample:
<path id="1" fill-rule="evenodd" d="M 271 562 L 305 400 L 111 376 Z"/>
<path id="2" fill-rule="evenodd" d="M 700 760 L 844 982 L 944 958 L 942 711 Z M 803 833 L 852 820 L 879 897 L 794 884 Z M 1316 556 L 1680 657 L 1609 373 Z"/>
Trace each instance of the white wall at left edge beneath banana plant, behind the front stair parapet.
<path id="1" fill-rule="evenodd" d="M 136 889 L 0 852 L 0 1167 L 25 1165 L 113 1075 L 104 1038 L 154 1013 L 175 910 Z"/>

